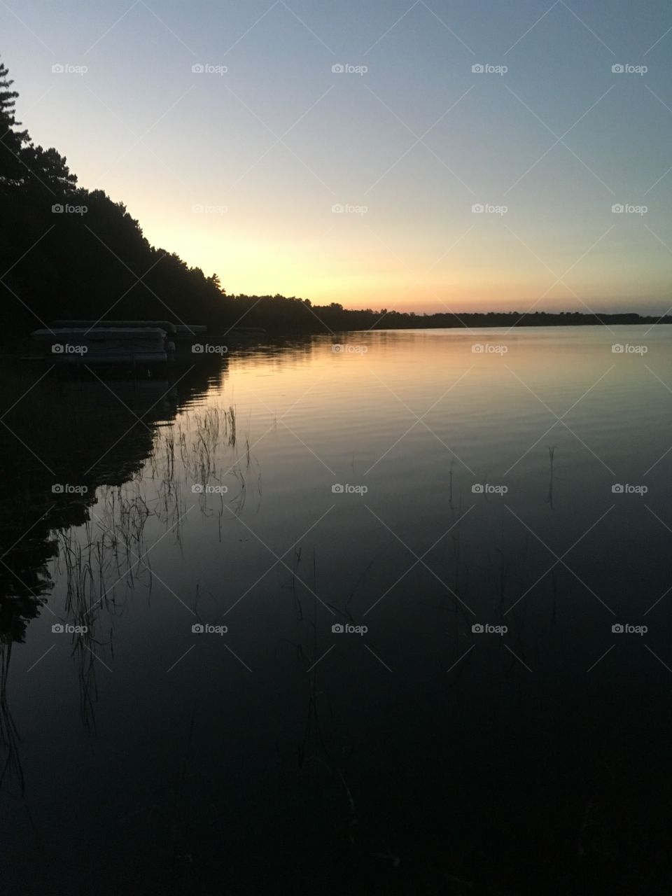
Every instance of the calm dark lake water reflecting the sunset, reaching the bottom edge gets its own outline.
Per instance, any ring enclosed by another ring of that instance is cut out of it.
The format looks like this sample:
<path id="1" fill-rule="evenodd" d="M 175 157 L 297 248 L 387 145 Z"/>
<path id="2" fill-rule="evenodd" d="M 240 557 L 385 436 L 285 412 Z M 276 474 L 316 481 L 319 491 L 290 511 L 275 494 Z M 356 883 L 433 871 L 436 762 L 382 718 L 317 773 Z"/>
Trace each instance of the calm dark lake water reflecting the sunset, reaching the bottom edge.
<path id="1" fill-rule="evenodd" d="M 5 892 L 670 892 L 672 329 L 339 339 L 4 362 Z"/>

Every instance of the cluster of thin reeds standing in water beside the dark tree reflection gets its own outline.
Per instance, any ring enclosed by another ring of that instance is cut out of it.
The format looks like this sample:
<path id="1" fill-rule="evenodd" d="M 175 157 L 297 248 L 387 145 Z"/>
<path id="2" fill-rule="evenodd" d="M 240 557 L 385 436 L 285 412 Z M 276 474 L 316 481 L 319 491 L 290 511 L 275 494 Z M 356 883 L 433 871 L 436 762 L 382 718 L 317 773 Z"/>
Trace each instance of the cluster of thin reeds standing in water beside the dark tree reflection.
<path id="1" fill-rule="evenodd" d="M 59 415 L 55 418 L 63 420 L 60 411 Z M 67 423 L 63 422 L 63 426 L 65 432 Z M 220 495 L 216 508 L 221 541 L 225 517 L 243 513 L 251 490 L 261 499 L 259 465 L 252 453 L 249 433 L 241 440 L 233 404 L 205 411 L 189 410 L 170 425 L 161 426 L 152 438 L 151 451 L 122 485 L 99 485 L 95 493 L 90 493 L 92 501 L 89 495 L 79 502 L 85 517 L 83 523 L 54 530 L 55 556 L 48 562 L 54 584 L 50 587 L 58 589 L 64 622 L 82 626 L 81 633 L 73 634 L 71 656 L 85 728 L 95 729 L 99 659 L 105 661 L 106 654 L 114 657 L 112 622 L 123 615 L 128 596 L 134 590 L 142 589 L 151 595 L 154 528 L 165 526 L 181 546 L 183 518 L 188 504 L 193 503 L 191 487 L 194 482 L 218 481 L 219 469 L 237 482 L 235 494 Z M 205 502 L 202 512 L 207 513 Z M 300 549 L 297 555 L 298 568 Z M 0 644 L 4 663 L 0 669 L 0 781 L 4 771 L 13 768 L 18 773 L 19 768 L 18 734 L 9 715 L 5 690 L 10 654 L 11 645 Z"/>

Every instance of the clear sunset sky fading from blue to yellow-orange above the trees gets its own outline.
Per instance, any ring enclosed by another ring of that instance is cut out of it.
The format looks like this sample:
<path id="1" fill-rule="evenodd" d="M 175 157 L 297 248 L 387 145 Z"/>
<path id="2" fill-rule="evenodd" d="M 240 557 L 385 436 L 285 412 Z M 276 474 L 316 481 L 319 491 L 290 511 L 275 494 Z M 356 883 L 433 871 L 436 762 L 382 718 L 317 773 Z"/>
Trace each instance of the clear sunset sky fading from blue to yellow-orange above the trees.
<path id="1" fill-rule="evenodd" d="M 33 140 L 228 293 L 672 306 L 667 3 L 1 0 L 0 58 Z"/>

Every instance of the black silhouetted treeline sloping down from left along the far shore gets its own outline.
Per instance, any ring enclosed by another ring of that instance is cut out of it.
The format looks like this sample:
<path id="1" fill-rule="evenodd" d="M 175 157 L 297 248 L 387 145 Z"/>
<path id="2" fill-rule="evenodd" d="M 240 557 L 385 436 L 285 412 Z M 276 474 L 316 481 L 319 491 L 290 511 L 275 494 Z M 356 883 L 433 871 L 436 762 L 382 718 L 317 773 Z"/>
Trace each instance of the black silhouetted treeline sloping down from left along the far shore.
<path id="1" fill-rule="evenodd" d="M 151 246 L 123 202 L 77 185 L 56 149 L 35 145 L 16 120 L 19 94 L 0 62 L 0 339 L 57 318 L 240 324 L 278 334 L 417 327 L 669 323 L 672 317 L 534 311 L 415 314 L 350 310 L 309 299 L 229 296 L 216 273 Z"/>

